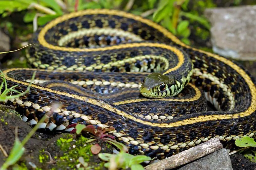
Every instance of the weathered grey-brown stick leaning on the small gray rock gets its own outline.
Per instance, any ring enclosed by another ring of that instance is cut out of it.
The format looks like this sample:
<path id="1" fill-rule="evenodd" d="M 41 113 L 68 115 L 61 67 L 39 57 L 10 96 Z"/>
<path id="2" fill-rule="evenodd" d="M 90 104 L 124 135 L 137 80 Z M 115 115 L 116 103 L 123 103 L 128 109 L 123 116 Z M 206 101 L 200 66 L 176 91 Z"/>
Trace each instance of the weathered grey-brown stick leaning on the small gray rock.
<path id="1" fill-rule="evenodd" d="M 179 167 L 223 148 L 219 138 L 210 139 L 198 146 L 180 152 L 145 167 L 146 170 L 163 170 Z"/>

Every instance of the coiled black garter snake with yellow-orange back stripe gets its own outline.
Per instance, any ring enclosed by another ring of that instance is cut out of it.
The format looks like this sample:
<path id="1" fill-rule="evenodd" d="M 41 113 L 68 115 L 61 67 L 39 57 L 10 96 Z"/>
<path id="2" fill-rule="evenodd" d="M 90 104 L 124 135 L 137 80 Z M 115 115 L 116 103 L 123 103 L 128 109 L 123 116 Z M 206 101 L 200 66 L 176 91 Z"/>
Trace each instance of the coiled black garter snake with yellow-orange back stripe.
<path id="1" fill-rule="evenodd" d="M 4 73 L 17 91 L 25 91 L 35 70 L 36 80 L 29 93 L 5 104 L 31 125 L 53 111 L 40 125 L 47 132 L 70 131 L 73 123 L 114 127 L 130 153 L 159 159 L 213 137 L 231 148 L 235 139 L 255 136 L 252 76 L 151 20 L 117 10 L 78 11 L 39 28 L 31 42 L 33 68 Z M 216 111 L 207 111 L 206 101 Z M 60 107 L 53 110 L 53 102 Z"/>

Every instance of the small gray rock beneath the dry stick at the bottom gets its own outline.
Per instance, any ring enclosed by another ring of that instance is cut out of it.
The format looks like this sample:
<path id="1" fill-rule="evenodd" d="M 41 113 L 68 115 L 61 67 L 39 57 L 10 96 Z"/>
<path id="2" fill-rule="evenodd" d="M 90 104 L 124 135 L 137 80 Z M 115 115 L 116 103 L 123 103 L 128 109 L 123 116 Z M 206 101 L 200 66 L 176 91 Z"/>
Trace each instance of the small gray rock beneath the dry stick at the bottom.
<path id="1" fill-rule="evenodd" d="M 201 159 L 184 165 L 177 170 L 232 170 L 232 164 L 226 149 L 222 148 Z"/>

